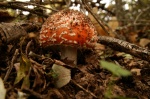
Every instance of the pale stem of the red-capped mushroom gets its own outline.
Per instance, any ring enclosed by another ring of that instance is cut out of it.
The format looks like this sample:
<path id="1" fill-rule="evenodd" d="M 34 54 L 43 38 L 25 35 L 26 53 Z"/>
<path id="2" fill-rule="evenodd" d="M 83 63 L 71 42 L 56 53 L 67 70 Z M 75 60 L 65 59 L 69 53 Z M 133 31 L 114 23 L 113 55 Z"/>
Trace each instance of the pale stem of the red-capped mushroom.
<path id="1" fill-rule="evenodd" d="M 72 46 L 62 46 L 60 49 L 61 59 L 67 59 L 72 61 L 74 65 L 77 65 L 77 48 Z"/>

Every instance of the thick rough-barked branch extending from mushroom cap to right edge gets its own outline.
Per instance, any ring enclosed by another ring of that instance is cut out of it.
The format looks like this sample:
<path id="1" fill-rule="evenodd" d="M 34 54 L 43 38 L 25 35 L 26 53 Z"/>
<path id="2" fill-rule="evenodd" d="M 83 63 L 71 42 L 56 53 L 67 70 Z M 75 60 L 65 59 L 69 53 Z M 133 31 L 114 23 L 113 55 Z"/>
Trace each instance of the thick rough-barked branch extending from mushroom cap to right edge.
<path id="1" fill-rule="evenodd" d="M 135 44 L 123 40 L 119 40 L 116 38 L 112 38 L 112 37 L 106 37 L 106 36 L 99 36 L 98 43 L 109 46 L 110 48 L 117 51 L 123 51 L 129 53 L 133 56 L 136 56 L 140 59 L 150 62 L 150 50 L 146 48 L 142 48 Z"/>

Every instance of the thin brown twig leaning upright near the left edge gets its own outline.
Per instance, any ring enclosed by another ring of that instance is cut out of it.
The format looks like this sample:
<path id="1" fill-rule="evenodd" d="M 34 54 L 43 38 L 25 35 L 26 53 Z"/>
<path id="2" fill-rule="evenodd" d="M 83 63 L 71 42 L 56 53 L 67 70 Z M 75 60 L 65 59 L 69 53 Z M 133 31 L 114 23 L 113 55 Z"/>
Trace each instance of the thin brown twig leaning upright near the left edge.
<path id="1" fill-rule="evenodd" d="M 11 60 L 11 64 L 10 64 L 10 66 L 9 66 L 9 69 L 7 70 L 6 75 L 5 75 L 5 77 L 4 77 L 4 82 L 7 81 L 8 77 L 9 77 L 11 71 L 12 71 L 12 68 L 13 68 L 13 66 L 14 66 L 14 61 L 16 60 L 18 53 L 19 53 L 19 50 L 16 49 L 16 51 L 15 51 L 13 57 L 12 57 L 12 60 Z"/>

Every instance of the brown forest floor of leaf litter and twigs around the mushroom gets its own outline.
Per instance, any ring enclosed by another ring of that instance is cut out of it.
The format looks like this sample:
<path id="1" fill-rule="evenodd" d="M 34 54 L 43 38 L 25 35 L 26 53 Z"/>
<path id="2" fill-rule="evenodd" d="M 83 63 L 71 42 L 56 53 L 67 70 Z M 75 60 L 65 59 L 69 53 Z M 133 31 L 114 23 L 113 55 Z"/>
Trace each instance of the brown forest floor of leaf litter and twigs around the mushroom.
<path id="1" fill-rule="evenodd" d="M 140 42 L 134 43 L 140 45 Z M 95 50 L 79 49 L 76 66 L 60 60 L 59 51 L 42 49 L 34 39 L 3 46 L 0 51 L 0 75 L 7 99 L 150 99 L 149 62 L 107 46 L 99 44 Z M 30 55 L 31 51 L 36 54 Z M 118 64 L 132 75 L 117 77 L 103 69 L 100 60 Z M 70 75 L 61 76 L 69 80 L 61 88 L 55 87 L 57 77 L 52 73 L 55 62 L 71 71 L 71 79 Z M 19 69 L 21 66 L 23 70 Z"/>

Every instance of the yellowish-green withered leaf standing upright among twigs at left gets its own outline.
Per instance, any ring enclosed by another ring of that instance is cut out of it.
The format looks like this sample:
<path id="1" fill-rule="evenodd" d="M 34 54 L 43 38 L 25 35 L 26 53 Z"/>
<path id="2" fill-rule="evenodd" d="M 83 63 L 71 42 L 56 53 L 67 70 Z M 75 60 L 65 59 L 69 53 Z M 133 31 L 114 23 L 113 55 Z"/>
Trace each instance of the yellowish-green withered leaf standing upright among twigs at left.
<path id="1" fill-rule="evenodd" d="M 29 59 L 27 58 L 27 56 L 24 54 L 21 54 L 20 68 L 17 72 L 17 77 L 15 79 L 14 84 L 19 83 L 23 78 L 28 76 L 30 67 L 31 67 L 31 63 L 30 63 Z M 25 78 L 25 79 L 27 79 L 27 78 Z"/>

